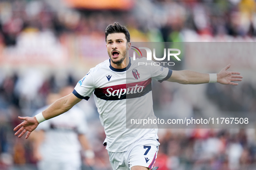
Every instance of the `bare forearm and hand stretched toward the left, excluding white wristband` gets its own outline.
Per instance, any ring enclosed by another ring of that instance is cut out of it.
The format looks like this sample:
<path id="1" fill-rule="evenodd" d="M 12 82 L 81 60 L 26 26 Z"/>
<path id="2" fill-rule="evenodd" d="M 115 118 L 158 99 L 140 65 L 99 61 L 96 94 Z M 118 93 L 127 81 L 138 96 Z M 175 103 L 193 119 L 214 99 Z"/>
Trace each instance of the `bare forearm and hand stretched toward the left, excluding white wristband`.
<path id="1" fill-rule="evenodd" d="M 55 116 L 58 116 L 62 113 L 65 113 L 69 109 L 71 109 L 75 104 L 77 104 L 82 99 L 77 98 L 73 93 L 68 94 L 67 96 L 58 99 L 52 105 L 50 105 L 47 109 L 42 112 L 42 116 L 48 120 Z M 36 129 L 39 125 L 38 120 L 36 117 L 20 117 L 20 120 L 24 120 L 18 126 L 16 126 L 13 130 L 18 130 L 15 135 L 18 135 L 19 138 L 23 136 L 27 131 L 26 139 L 29 137 L 30 133 Z"/>

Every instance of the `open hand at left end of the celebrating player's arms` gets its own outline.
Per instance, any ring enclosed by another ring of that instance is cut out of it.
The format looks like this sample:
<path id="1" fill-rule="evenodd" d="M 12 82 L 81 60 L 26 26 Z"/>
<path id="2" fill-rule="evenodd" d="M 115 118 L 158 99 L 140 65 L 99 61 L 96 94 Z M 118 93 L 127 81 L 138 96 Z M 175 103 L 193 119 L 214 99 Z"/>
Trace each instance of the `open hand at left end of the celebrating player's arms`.
<path id="1" fill-rule="evenodd" d="M 36 127 L 39 125 L 39 122 L 36 120 L 36 117 L 20 117 L 20 120 L 24 120 L 23 123 L 20 123 L 18 126 L 16 126 L 13 130 L 18 130 L 14 135 L 18 135 L 19 138 L 23 136 L 27 131 L 26 139 L 28 139 L 30 133 L 36 129 Z"/>

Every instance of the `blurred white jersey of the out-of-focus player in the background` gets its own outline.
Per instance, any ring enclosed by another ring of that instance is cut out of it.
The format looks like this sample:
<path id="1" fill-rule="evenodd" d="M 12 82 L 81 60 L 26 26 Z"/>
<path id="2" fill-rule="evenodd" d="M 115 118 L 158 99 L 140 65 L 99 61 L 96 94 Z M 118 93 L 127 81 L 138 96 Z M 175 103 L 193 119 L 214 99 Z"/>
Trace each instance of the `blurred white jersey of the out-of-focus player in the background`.
<path id="1" fill-rule="evenodd" d="M 43 107 L 36 113 L 46 108 Z M 40 123 L 36 130 L 45 131 L 45 140 L 40 147 L 42 161 L 71 161 L 81 165 L 78 134 L 87 133 L 87 129 L 84 113 L 76 106 L 64 114 Z"/>

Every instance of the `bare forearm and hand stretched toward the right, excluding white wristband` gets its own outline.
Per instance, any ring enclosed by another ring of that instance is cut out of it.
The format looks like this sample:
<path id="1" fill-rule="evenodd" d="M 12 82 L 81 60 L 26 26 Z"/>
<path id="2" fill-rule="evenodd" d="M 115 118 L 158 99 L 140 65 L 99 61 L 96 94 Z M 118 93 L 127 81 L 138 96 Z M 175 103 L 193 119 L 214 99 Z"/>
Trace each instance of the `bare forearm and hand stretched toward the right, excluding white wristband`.
<path id="1" fill-rule="evenodd" d="M 238 85 L 233 81 L 242 81 L 243 76 L 240 72 L 227 71 L 230 64 L 217 73 L 217 82 L 223 85 Z M 180 84 L 203 84 L 208 83 L 210 76 L 207 73 L 195 72 L 191 70 L 172 71 L 172 76 L 167 80 L 169 82 L 178 82 Z"/>

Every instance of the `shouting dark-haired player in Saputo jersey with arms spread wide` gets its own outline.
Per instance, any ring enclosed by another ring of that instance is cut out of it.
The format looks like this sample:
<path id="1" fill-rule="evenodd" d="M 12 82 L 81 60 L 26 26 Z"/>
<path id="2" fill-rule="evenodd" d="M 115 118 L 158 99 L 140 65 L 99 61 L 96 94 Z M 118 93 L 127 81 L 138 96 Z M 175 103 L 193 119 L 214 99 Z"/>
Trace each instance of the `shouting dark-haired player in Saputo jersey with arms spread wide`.
<path id="1" fill-rule="evenodd" d="M 131 113 L 151 117 L 154 115 L 152 79 L 181 84 L 218 82 L 225 85 L 238 85 L 234 81 L 242 80 L 239 72 L 227 71 L 230 65 L 218 74 L 138 66 L 138 62 L 145 59 L 130 60 L 126 57 L 126 51 L 131 47 L 130 33 L 117 22 L 107 26 L 105 40 L 110 59 L 92 68 L 71 94 L 58 99 L 41 113 L 34 117 L 19 116 L 24 121 L 14 128 L 17 130 L 15 135 L 21 137 L 28 131 L 27 139 L 39 123 L 65 113 L 82 99 L 88 100 L 93 93 L 107 136 L 104 144 L 113 170 L 150 170 L 159 146 L 157 128 L 126 129 L 127 101 L 133 104 L 128 108 Z"/>

